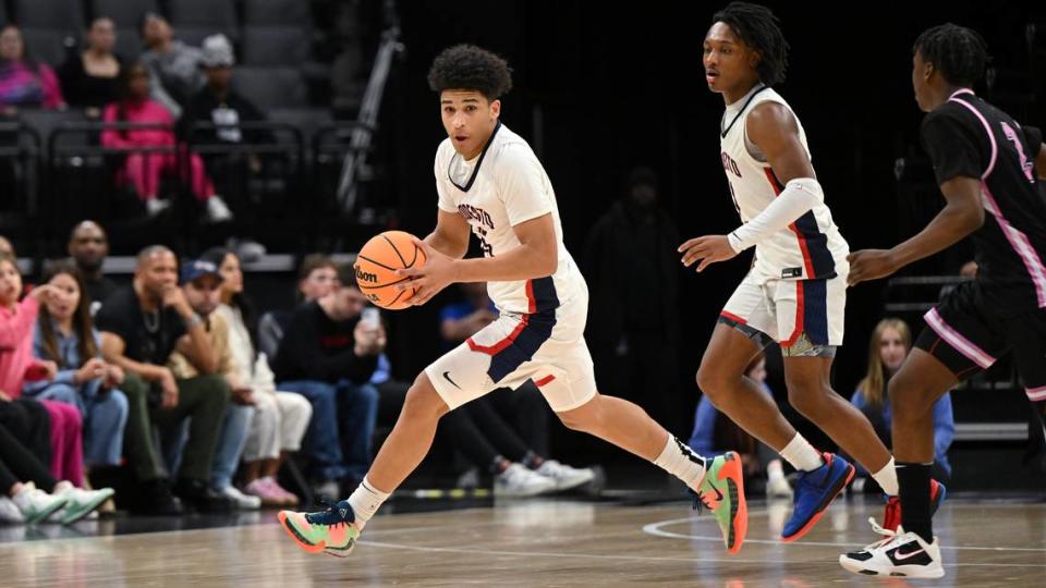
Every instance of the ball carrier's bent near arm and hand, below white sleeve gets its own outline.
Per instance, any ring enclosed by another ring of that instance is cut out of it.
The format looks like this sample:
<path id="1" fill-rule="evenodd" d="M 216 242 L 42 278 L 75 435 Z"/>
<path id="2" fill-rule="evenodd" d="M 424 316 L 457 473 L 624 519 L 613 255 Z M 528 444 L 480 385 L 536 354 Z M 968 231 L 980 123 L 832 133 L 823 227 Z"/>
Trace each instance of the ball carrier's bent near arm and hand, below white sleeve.
<path id="1" fill-rule="evenodd" d="M 427 261 L 421 268 L 397 270 L 398 275 L 413 278 L 410 283 L 397 287 L 416 289 L 410 302 L 419 306 L 454 282 L 512 282 L 556 273 L 559 247 L 552 215 L 549 212 L 521 222 L 512 230 L 520 246 L 497 257 L 454 259 L 434 249 L 427 242 L 418 241 Z"/>

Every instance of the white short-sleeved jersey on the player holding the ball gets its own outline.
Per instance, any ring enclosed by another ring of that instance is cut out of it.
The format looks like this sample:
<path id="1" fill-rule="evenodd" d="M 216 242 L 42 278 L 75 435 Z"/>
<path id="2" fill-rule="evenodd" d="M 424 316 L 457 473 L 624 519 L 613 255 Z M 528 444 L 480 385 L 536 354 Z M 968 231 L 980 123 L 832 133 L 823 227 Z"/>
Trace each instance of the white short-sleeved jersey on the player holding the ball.
<path id="1" fill-rule="evenodd" d="M 563 246 L 552 183 L 522 137 L 498 122 L 483 152 L 471 161 L 464 161 L 447 138 L 436 151 L 435 173 L 440 210 L 457 212 L 469 222 L 486 257 L 520 246 L 512 226 L 552 215 L 559 248 L 556 273 L 535 280 L 488 282 L 487 292 L 499 310 L 554 311 L 586 291 L 581 271 Z"/>

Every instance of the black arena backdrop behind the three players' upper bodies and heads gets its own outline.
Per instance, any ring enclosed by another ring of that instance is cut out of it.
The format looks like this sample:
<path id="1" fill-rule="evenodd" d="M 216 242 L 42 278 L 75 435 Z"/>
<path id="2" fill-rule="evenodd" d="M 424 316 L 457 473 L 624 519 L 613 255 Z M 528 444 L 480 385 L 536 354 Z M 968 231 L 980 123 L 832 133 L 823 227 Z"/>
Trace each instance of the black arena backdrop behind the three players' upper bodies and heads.
<path id="1" fill-rule="evenodd" d="M 1042 9 L 1018 2 L 766 4 L 791 44 L 788 79 L 779 89 L 803 121 L 836 222 L 853 249 L 908 236 L 899 234 L 903 203 L 893 168 L 898 157 L 919 151 L 922 115 L 910 82 L 915 36 L 945 21 L 973 26 L 987 38 L 996 65 L 1020 70 L 1027 66 L 1021 63 L 1024 23 L 1042 21 Z M 404 225 L 422 233 L 436 216 L 431 161 L 442 130 L 425 73 L 440 49 L 475 42 L 515 70 L 502 120 L 531 140 L 544 162 L 575 256 L 635 164 L 660 173 L 662 204 L 684 237 L 730 231 L 738 219 L 716 137 L 722 101 L 704 86 L 701 64 L 702 39 L 719 5 L 402 2 L 408 57 L 397 73 L 394 142 Z M 992 23 L 988 29 L 985 23 Z M 1039 112 L 1038 121 L 1029 122 L 1042 124 L 1042 118 Z M 749 256 L 743 258 L 680 281 L 681 415 L 692 414 L 693 372 L 719 308 L 746 270 Z M 877 283 L 850 291 L 847 344 L 836 373 L 836 387 L 847 396 L 864 369 L 880 291 Z M 435 326 L 435 309 L 427 311 L 425 320 Z M 429 359 L 421 354 L 415 367 Z M 673 425 L 685 428 L 690 420 Z"/>

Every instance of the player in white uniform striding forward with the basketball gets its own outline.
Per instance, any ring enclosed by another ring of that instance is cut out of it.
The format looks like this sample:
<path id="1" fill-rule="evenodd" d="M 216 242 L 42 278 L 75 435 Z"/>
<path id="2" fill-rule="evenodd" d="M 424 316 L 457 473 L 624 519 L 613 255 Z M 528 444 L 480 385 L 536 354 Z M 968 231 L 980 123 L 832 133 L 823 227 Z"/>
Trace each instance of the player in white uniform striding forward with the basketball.
<path id="1" fill-rule="evenodd" d="M 683 480 L 735 553 L 747 523 L 738 455 L 696 455 L 638 406 L 596 391 L 583 336 L 588 289 L 563 246 L 555 192 L 531 147 L 499 120 L 499 98 L 512 85 L 508 64 L 461 45 L 436 58 L 428 81 L 448 135 L 436 152 L 439 213 L 436 229 L 416 242 L 427 257 L 424 268 L 400 274 L 413 278 L 415 305 L 454 282 L 487 282 L 499 317 L 417 377 L 392 433 L 348 500 L 324 512 L 281 512 L 283 527 L 306 551 L 348 555 L 378 506 L 428 452 L 441 415 L 496 388 L 533 380 L 567 427 Z M 482 258 L 463 259 L 470 232 Z"/>

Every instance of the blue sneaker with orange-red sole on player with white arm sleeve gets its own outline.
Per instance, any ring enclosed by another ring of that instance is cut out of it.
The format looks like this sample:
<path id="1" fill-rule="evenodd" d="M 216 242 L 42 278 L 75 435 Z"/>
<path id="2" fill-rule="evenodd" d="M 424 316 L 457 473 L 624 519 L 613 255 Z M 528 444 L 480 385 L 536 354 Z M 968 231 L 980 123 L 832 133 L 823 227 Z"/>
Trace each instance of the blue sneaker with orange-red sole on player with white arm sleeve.
<path id="1" fill-rule="evenodd" d="M 784 523 L 781 539 L 794 541 L 817 524 L 820 515 L 853 479 L 854 467 L 834 453 L 823 453 L 825 465 L 813 471 L 800 471 L 795 479 L 792 516 Z"/>

